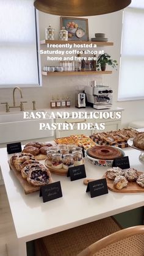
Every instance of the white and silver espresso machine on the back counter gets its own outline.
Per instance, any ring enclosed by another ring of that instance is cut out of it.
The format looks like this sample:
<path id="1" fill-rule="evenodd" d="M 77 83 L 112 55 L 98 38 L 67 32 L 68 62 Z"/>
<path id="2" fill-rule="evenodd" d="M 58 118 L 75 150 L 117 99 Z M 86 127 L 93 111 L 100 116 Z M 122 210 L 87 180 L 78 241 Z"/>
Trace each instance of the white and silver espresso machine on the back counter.
<path id="1" fill-rule="evenodd" d="M 113 90 L 109 86 L 85 86 L 87 103 L 95 109 L 109 109 L 112 106 Z"/>

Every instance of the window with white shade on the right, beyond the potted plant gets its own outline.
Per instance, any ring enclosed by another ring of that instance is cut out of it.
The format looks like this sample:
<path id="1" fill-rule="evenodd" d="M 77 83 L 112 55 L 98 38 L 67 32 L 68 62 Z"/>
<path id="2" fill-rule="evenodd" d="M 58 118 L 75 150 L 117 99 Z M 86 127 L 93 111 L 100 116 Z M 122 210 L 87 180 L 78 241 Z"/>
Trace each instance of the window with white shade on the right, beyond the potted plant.
<path id="1" fill-rule="evenodd" d="M 123 12 L 118 100 L 144 98 L 144 2 L 132 0 Z"/>

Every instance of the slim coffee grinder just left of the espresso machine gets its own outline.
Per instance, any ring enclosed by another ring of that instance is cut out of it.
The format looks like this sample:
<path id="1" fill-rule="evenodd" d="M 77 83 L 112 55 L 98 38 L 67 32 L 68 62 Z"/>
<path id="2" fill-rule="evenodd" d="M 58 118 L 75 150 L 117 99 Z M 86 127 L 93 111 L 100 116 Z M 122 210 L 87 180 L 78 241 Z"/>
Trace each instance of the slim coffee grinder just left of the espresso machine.
<path id="1" fill-rule="evenodd" d="M 85 87 L 84 86 L 77 86 L 76 87 L 76 99 L 75 99 L 75 106 L 76 108 L 85 108 Z"/>

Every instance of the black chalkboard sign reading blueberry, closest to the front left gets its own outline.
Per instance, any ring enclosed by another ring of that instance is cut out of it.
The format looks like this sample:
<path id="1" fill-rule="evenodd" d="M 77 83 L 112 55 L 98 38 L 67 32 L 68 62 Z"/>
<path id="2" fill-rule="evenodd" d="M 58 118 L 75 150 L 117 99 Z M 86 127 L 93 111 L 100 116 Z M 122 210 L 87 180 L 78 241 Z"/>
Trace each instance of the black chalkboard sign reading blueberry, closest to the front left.
<path id="1" fill-rule="evenodd" d="M 40 197 L 43 197 L 43 202 L 48 202 L 59 197 L 62 197 L 62 188 L 60 181 L 41 186 L 40 187 Z"/>

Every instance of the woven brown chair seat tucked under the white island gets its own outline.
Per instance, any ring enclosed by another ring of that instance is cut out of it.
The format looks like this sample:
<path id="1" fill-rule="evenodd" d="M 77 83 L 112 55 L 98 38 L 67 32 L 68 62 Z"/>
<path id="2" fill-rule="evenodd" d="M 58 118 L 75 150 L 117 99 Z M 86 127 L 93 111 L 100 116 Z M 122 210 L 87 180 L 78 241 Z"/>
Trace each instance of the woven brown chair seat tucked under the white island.
<path id="1" fill-rule="evenodd" d="M 35 256 L 76 256 L 90 244 L 118 230 L 120 225 L 111 217 L 80 225 L 35 240 Z"/>

